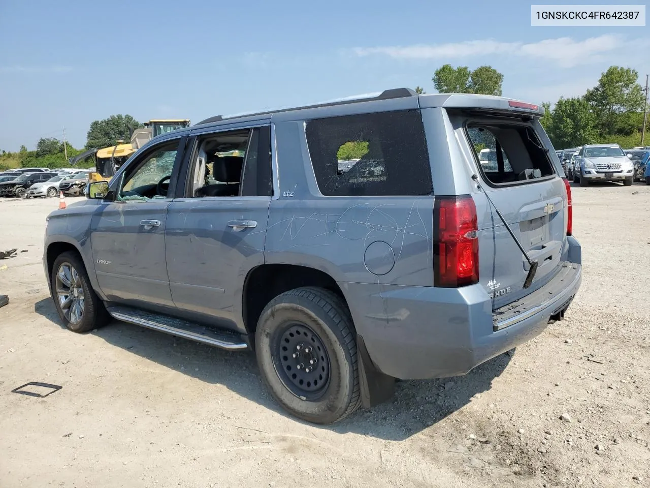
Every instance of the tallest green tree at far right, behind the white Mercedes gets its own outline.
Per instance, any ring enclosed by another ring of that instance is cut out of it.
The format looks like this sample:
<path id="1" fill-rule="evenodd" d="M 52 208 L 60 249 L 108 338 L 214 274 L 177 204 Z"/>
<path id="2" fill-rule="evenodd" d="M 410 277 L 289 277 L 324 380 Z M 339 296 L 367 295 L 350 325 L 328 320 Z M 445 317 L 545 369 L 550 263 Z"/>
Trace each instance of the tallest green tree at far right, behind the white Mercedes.
<path id="1" fill-rule="evenodd" d="M 584 98 L 597 116 L 603 135 L 630 135 L 634 130 L 631 113 L 643 110 L 643 91 L 637 82 L 639 74 L 632 68 L 610 66 L 601 75 L 598 85 L 587 90 Z M 640 122 L 643 124 L 643 122 Z"/>

